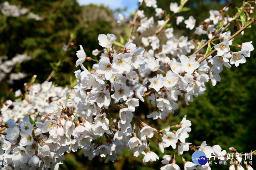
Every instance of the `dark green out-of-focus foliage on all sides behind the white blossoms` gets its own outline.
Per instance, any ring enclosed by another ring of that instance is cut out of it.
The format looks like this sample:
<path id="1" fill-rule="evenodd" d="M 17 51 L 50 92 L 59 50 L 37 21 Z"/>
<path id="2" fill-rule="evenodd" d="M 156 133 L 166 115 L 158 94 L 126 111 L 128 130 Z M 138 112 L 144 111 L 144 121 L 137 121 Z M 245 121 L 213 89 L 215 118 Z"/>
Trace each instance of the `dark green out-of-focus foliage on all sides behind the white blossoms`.
<path id="1" fill-rule="evenodd" d="M 1 0 L 0 3 L 2 2 L 4 1 Z M 53 69 L 56 69 L 57 73 L 51 79 L 52 81 L 62 86 L 70 85 L 74 80 L 73 72 L 77 70 L 74 65 L 75 52 L 79 49 L 79 44 L 83 45 L 86 54 L 91 56 L 92 50 L 101 49 L 98 45 L 98 34 L 116 33 L 125 37 L 123 28 L 127 25 L 119 26 L 114 19 L 113 11 L 103 6 L 80 7 L 75 0 L 10 0 L 8 2 L 10 5 L 29 8 L 39 16 L 44 16 L 45 19 L 35 21 L 27 19 L 26 16 L 0 16 L 0 56 L 7 55 L 12 58 L 16 53 L 28 53 L 33 56 L 32 61 L 22 63 L 14 68 L 15 71 L 28 73 L 26 79 L 16 81 L 14 84 L 8 84 L 5 81 L 0 82 L 2 101 L 14 99 L 13 91 L 23 88 L 23 83 L 29 81 L 32 75 L 37 74 L 36 81 L 42 83 Z M 174 1 L 158 1 L 158 7 L 169 12 L 170 2 Z M 241 3 L 242 1 L 234 1 L 229 13 L 234 14 L 236 12 L 235 6 L 240 7 Z M 185 19 L 193 15 L 197 20 L 196 25 L 198 25 L 209 16 L 210 9 L 220 10 L 225 5 L 226 3 L 218 1 L 191 0 L 186 6 L 192 9 L 180 15 L 183 15 Z M 142 9 L 145 10 L 146 16 L 154 15 L 153 8 L 143 6 Z M 171 27 L 174 27 L 174 30 L 179 29 L 175 36 L 181 34 L 190 36 L 193 33 L 193 31 L 185 29 L 184 23 L 176 26 L 175 19 L 171 19 L 170 23 L 173 23 Z M 238 23 L 233 23 L 229 30 L 235 32 L 237 26 Z M 233 44 L 253 41 L 253 45 L 256 46 L 254 41 L 255 28 L 256 26 L 252 25 L 252 28 L 246 29 L 245 34 L 236 37 Z M 70 46 L 65 54 L 62 46 L 69 42 L 71 33 L 75 35 L 74 45 Z M 164 34 L 160 33 L 159 38 L 165 39 Z M 198 39 L 199 36 L 194 36 L 194 38 Z M 204 38 L 207 39 L 207 37 Z M 138 41 L 138 43 L 140 42 Z M 231 50 L 239 49 L 231 47 Z M 151 111 L 151 108 L 145 110 L 147 103 L 141 103 L 136 114 L 146 123 L 154 124 L 159 129 L 167 125 L 175 125 L 181 121 L 184 115 L 187 115 L 187 119 L 192 122 L 192 131 L 186 140 L 187 142 L 196 146 L 200 146 L 203 141 L 206 141 L 207 145 L 210 146 L 219 144 L 227 152 L 229 152 L 229 147 L 235 147 L 238 152 L 243 153 L 255 150 L 255 54 L 255 51 L 251 52 L 251 57 L 246 58 L 247 62 L 239 65 L 238 68 L 234 65 L 231 69 L 224 67 L 220 74 L 221 82 L 218 82 L 215 87 L 211 85 L 211 82 L 206 83 L 205 94 L 199 95 L 197 98 L 194 97 L 194 102 L 189 103 L 188 106 L 186 106 L 184 99 L 181 99 L 180 108 L 166 120 L 152 121 L 145 118 L 145 115 Z M 59 67 L 56 67 L 59 59 L 62 62 Z M 91 63 L 85 64 L 91 66 Z M 9 89 L 13 89 L 13 91 Z M 60 166 L 60 169 L 159 169 L 163 166 L 161 164 L 163 154 L 158 151 L 155 141 L 150 142 L 151 150 L 155 151 L 160 158 L 153 163 L 142 163 L 143 156 L 135 158 L 132 152 L 128 152 L 128 150 L 123 151 L 119 161 L 107 164 L 104 164 L 104 159 L 99 157 L 89 161 L 82 152 L 77 152 L 76 154 L 66 154 L 64 164 Z M 173 150 L 167 148 L 165 154 L 170 155 L 172 152 Z M 191 154 L 192 152 L 188 151 L 183 157 L 187 161 L 191 161 Z M 177 158 L 177 163 L 182 164 L 181 159 Z M 255 163 L 253 161 L 253 167 Z M 213 170 L 228 169 L 228 165 L 213 165 L 211 168 Z"/>

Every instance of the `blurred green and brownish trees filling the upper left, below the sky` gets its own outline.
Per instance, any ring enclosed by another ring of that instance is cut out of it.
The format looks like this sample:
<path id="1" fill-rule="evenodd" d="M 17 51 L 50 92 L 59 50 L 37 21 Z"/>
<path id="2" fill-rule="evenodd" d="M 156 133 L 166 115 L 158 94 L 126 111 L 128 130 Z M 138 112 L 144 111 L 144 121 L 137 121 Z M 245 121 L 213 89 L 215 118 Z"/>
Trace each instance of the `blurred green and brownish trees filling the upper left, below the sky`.
<path id="1" fill-rule="evenodd" d="M 3 2 L 1 0 L 0 4 Z M 51 80 L 60 86 L 70 84 L 77 69 L 74 65 L 79 44 L 83 45 L 86 54 L 90 56 L 92 50 L 99 48 L 98 34 L 111 32 L 116 24 L 113 12 L 108 8 L 95 5 L 81 7 L 76 0 L 8 2 L 10 5 L 27 8 L 44 19 L 36 21 L 27 18 L 27 15 L 0 16 L 0 56 L 11 59 L 17 53 L 27 53 L 33 57 L 33 60 L 14 68 L 15 72 L 27 73 L 27 78 L 15 81 L 13 85 L 1 81 L 0 88 L 5 89 L 0 92 L 2 101 L 13 98 L 13 92 L 10 95 L 6 93 L 10 88 L 14 91 L 23 88 L 23 83 L 28 82 L 34 74 L 37 75 L 37 82 L 42 83 L 53 69 L 56 72 Z M 74 40 L 65 53 L 71 36 Z M 59 60 L 61 62 L 57 67 Z"/>

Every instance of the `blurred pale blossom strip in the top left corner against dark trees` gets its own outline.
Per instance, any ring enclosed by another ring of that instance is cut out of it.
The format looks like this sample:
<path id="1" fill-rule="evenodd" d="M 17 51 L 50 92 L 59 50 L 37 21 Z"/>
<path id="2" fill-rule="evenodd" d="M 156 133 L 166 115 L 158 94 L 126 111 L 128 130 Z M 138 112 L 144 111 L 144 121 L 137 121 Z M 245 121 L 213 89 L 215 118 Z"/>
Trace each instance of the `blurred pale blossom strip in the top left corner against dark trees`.
<path id="1" fill-rule="evenodd" d="M 42 21 L 44 19 L 43 17 L 40 17 L 38 14 L 29 12 L 29 9 L 27 8 L 20 8 L 16 5 L 10 5 L 8 1 L 5 1 L 2 4 L 0 4 L 0 11 L 2 12 L 3 15 L 7 15 L 7 16 L 18 17 L 18 16 L 22 16 L 29 13 L 27 15 L 27 18 L 31 18 L 36 21 Z"/>

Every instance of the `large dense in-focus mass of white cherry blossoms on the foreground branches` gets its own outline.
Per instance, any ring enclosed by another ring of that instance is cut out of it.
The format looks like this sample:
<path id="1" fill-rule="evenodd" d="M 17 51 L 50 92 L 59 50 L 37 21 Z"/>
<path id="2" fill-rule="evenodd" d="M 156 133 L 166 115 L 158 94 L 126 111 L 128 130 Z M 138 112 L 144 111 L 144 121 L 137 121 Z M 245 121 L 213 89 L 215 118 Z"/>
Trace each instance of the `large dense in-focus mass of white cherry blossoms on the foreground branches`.
<path id="1" fill-rule="evenodd" d="M 7 100 L 1 108 L 1 131 L 4 131 L 0 141 L 2 167 L 58 169 L 63 163 L 64 153 L 78 149 L 89 160 L 100 156 L 106 158 L 106 163 L 119 160 L 122 150 L 129 148 L 135 157 L 143 155 L 143 162 L 152 162 L 159 159 L 150 149 L 154 142 L 162 153 L 165 148 L 175 150 L 173 155 L 163 157 L 165 165 L 161 170 L 180 169 L 175 155 L 181 156 L 189 150 L 203 151 L 208 159 L 214 154 L 217 158 L 228 160 L 227 152 L 219 145 L 207 146 L 204 141 L 201 146 L 194 146 L 186 141 L 191 132 L 191 122 L 186 116 L 179 124 L 158 129 L 143 122 L 137 114 L 139 104 L 148 101 L 154 106 L 154 111 L 146 117 L 165 120 L 179 108 L 178 99 L 185 99 L 189 104 L 193 97 L 204 94 L 206 82 L 211 80 L 215 86 L 217 81 L 221 81 L 219 74 L 223 65 L 230 68 L 234 64 L 238 67 L 254 50 L 252 41 L 232 44 L 236 35 L 255 22 L 255 19 L 247 23 L 242 21 L 244 16 L 241 11 L 250 10 L 246 7 L 249 3 L 243 3 L 233 18 L 225 17 L 230 3 L 220 11 L 211 10 L 209 18 L 196 28 L 193 16 L 186 20 L 177 16 L 177 24 L 184 20 L 186 28 L 195 28 L 194 34 L 207 34 L 210 40 L 200 42 L 191 39 L 193 35 L 176 38 L 174 29 L 164 29 L 164 26 L 172 16 L 182 11 L 186 1 L 182 0 L 180 5 L 170 4 L 172 14 L 165 20 L 158 20 L 154 35 L 141 39 L 143 47 L 130 39 L 133 31 L 140 34 L 154 23 L 154 18 L 145 18 L 142 10 L 135 13 L 133 21 L 138 19 L 139 23 L 136 27 L 134 23 L 131 25 L 126 43 L 118 42 L 114 34 L 100 34 L 98 41 L 103 49 L 93 50 L 95 57 L 87 57 L 80 45 L 75 66 L 81 69 L 75 71 L 77 84 L 72 90 L 55 87 L 47 81 L 37 84 L 33 77 L 26 84 L 25 94 L 16 91 L 15 95 L 19 98 L 16 101 Z M 139 2 L 143 4 L 143 1 Z M 147 7 L 155 8 L 158 18 L 166 15 L 161 8 L 157 8 L 156 0 L 144 2 Z M 230 31 L 225 32 L 239 16 L 243 27 L 233 35 Z M 119 23 L 126 20 L 122 15 L 119 18 Z M 166 42 L 160 43 L 157 37 L 161 31 L 168 39 Z M 239 50 L 231 51 L 232 46 Z M 217 55 L 211 56 L 214 52 Z M 85 61 L 94 63 L 92 69 L 83 65 Z M 236 151 L 232 147 L 230 150 Z M 255 152 L 251 151 L 252 155 Z M 211 169 L 209 163 L 196 165 L 184 158 L 182 160 L 184 169 Z M 241 162 L 240 158 L 230 161 L 233 162 L 230 169 L 235 168 L 234 162 Z M 237 168 L 243 169 L 239 164 Z M 250 165 L 246 168 L 252 169 Z"/>

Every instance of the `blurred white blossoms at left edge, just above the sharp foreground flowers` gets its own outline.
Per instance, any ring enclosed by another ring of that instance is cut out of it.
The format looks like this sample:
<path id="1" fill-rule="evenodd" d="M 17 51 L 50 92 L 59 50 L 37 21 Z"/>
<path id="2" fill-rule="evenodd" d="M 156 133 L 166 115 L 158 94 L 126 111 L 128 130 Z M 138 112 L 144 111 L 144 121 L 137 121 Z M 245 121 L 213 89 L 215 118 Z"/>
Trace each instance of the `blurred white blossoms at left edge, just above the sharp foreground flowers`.
<path id="1" fill-rule="evenodd" d="M 0 81 L 8 78 L 9 83 L 13 83 L 13 80 L 20 80 L 26 77 L 25 73 L 11 73 L 14 66 L 18 63 L 22 63 L 24 60 L 31 60 L 32 57 L 27 54 L 16 54 L 11 60 L 7 60 L 7 56 L 0 57 Z"/>

